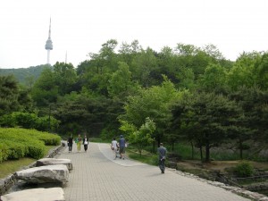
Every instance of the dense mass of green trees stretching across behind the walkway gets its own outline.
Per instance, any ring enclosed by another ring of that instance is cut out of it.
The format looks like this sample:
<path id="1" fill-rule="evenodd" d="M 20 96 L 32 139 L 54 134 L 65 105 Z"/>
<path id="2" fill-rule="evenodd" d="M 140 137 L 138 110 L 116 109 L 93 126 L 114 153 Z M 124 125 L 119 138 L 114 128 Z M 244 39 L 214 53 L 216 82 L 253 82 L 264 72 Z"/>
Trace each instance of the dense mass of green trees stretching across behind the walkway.
<path id="1" fill-rule="evenodd" d="M 45 68 L 32 88 L 0 77 L 0 125 L 109 140 L 124 134 L 144 147 L 184 141 L 205 161 L 223 143 L 240 158 L 264 154 L 268 53 L 231 62 L 213 45 L 155 52 L 137 40 L 119 46 L 111 39 L 88 55 L 77 68 Z"/>

